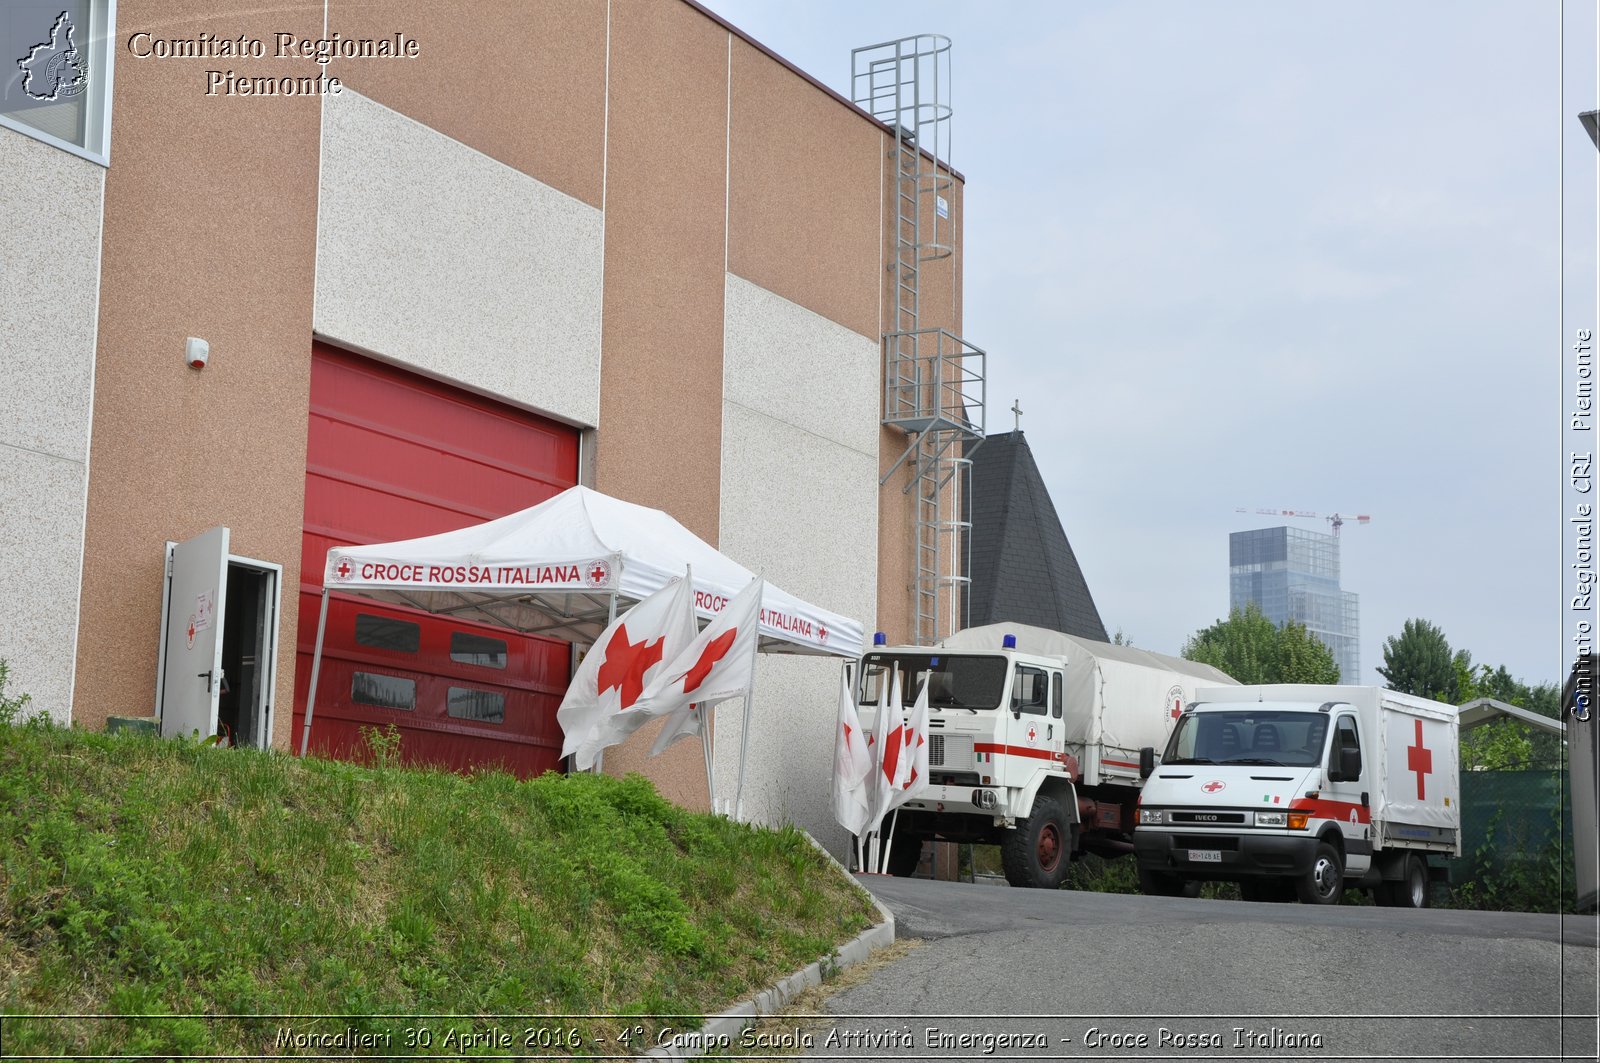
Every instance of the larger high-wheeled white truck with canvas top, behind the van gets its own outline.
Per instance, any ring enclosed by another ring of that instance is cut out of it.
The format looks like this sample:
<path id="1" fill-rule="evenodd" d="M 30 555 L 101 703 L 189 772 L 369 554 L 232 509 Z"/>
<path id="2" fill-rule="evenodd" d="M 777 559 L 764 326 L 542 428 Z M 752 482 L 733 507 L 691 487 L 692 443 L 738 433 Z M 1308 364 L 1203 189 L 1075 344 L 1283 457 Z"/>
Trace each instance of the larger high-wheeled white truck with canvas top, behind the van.
<path id="1" fill-rule="evenodd" d="M 1141 762 L 1197 688 L 1234 682 L 1174 656 L 989 624 L 931 648 L 874 645 L 856 672 L 874 732 L 891 666 L 906 704 L 928 684 L 931 741 L 930 786 L 899 810 L 890 871 L 915 871 L 928 839 L 998 844 L 1006 880 L 1040 889 L 1059 887 L 1080 850 L 1133 852 Z"/>

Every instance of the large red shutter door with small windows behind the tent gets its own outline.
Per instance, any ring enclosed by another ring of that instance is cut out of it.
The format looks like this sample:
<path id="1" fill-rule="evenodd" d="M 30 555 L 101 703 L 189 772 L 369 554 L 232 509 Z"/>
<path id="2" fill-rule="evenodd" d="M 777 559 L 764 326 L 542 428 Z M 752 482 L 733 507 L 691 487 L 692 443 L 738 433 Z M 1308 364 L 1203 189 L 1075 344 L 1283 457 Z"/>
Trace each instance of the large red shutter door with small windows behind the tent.
<path id="1" fill-rule="evenodd" d="M 330 548 L 448 532 L 576 482 L 578 429 L 315 344 L 293 746 L 306 722 Z M 310 748 L 358 759 L 360 728 L 394 724 L 405 760 L 554 770 L 570 660 L 565 642 L 334 597 Z"/>

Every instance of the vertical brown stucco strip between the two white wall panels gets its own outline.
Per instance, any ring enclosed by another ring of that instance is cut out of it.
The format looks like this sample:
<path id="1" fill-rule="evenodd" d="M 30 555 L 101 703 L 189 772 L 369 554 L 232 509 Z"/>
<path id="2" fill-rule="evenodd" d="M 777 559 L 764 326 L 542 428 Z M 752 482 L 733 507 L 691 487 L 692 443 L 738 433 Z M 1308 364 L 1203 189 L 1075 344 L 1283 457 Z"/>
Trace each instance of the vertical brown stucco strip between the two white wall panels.
<path id="1" fill-rule="evenodd" d="M 728 34 L 682 3 L 611 8 L 605 320 L 595 488 L 717 544 L 722 453 Z M 706 807 L 699 744 L 606 752 Z"/>

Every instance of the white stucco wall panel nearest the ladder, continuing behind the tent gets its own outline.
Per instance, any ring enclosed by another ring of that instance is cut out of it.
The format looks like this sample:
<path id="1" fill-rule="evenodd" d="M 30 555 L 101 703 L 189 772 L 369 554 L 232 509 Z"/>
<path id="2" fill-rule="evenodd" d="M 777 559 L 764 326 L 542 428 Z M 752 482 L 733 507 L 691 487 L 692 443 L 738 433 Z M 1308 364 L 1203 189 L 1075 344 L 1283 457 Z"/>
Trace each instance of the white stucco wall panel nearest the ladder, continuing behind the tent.
<path id="1" fill-rule="evenodd" d="M 722 544 L 810 602 L 872 629 L 877 597 L 878 344 L 728 275 Z M 845 852 L 832 823 L 837 658 L 766 655 L 752 703 L 744 810 L 800 823 Z M 733 796 L 742 704 L 717 714 L 717 791 Z"/>

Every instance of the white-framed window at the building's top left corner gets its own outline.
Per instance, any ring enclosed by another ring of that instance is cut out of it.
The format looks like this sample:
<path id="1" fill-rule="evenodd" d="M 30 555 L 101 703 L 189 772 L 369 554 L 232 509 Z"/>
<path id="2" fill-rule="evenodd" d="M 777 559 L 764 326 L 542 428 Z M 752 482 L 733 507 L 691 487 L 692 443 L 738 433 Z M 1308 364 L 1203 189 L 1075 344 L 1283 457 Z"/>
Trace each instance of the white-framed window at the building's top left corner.
<path id="1" fill-rule="evenodd" d="M 114 0 L 0 6 L 0 125 L 109 163 L 115 6 Z"/>

